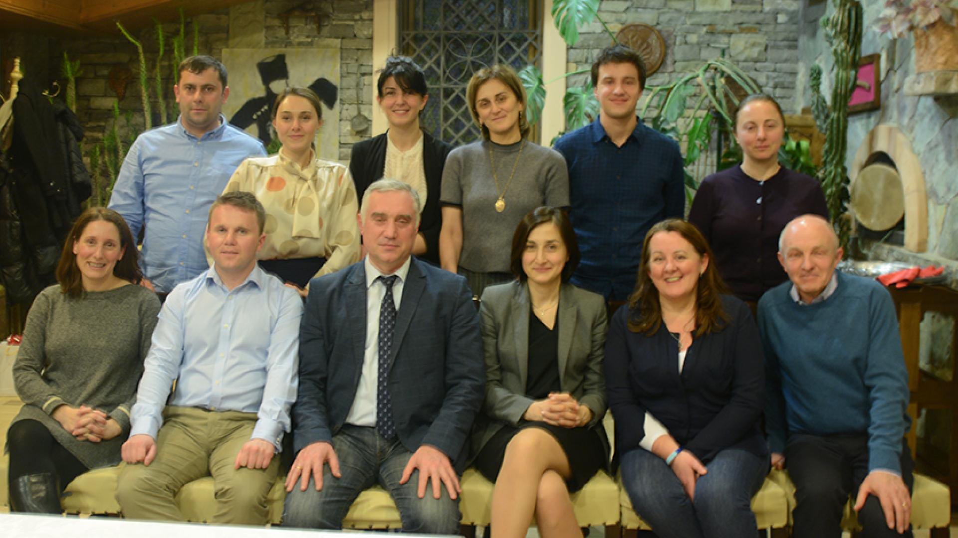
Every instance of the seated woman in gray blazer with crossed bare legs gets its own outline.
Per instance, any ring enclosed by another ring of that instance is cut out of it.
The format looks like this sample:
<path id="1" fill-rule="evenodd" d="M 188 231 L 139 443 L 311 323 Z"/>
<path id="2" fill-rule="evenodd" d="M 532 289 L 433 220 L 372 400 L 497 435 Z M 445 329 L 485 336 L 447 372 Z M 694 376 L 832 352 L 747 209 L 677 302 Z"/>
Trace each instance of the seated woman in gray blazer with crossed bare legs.
<path id="1" fill-rule="evenodd" d="M 566 214 L 538 208 L 513 235 L 517 280 L 482 296 L 486 399 L 473 464 L 490 481 L 492 534 L 581 536 L 569 492 L 607 469 L 603 298 L 568 283 L 579 247 Z"/>

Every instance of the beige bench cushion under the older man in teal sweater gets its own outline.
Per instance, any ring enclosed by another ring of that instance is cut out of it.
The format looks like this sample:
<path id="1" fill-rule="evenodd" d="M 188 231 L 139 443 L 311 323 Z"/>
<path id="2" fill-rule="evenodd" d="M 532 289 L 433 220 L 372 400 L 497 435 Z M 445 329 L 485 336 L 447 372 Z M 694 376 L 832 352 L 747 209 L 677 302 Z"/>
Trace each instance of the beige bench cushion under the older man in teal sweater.
<path id="1" fill-rule="evenodd" d="M 795 507 L 795 485 L 788 478 L 786 471 L 772 471 L 768 474 L 768 481 L 777 483 L 787 494 L 788 526 L 791 527 L 791 510 Z M 845 505 L 845 517 L 842 527 L 853 534 L 859 530 L 855 510 L 852 509 L 854 499 L 849 498 Z M 915 529 L 927 529 L 931 538 L 947 538 L 948 524 L 951 520 L 951 491 L 947 485 L 928 478 L 921 473 L 915 473 L 915 486 L 911 492 L 911 526 Z"/>

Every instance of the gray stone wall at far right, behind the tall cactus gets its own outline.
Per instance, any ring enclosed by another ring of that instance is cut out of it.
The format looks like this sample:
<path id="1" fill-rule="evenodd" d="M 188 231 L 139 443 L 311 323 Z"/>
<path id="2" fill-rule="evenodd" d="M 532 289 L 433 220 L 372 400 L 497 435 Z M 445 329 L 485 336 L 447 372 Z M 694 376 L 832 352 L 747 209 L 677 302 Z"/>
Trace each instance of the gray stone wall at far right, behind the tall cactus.
<path id="1" fill-rule="evenodd" d="M 861 54 L 882 55 L 881 108 L 849 116 L 845 164 L 851 167 L 855 152 L 879 123 L 894 123 L 907 136 L 919 156 L 928 198 L 928 246 L 924 253 L 910 253 L 886 244 L 867 244 L 870 258 L 898 259 L 927 265 L 946 265 L 950 284 L 958 289 L 958 97 L 932 98 L 904 94 L 905 79 L 914 74 L 914 39 L 907 34 L 892 39 L 873 28 L 881 3 L 866 2 Z M 825 16 L 833 12 L 832 4 Z M 811 65 L 823 67 L 822 92 L 831 94 L 831 48 L 817 20 L 806 21 L 799 39 L 796 106 L 808 105 L 808 74 Z"/>

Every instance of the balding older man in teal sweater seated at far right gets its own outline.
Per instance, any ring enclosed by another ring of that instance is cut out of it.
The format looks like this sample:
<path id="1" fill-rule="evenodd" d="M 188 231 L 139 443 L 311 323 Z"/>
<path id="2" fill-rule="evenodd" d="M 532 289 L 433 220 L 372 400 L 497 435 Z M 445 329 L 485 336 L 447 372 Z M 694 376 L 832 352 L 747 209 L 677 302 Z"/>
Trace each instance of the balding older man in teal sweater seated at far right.
<path id="1" fill-rule="evenodd" d="M 790 281 L 759 302 L 772 464 L 795 483 L 793 535 L 839 537 L 855 496 L 863 535 L 911 536 L 908 373 L 889 293 L 835 271 L 832 226 L 786 226 L 778 258 Z"/>

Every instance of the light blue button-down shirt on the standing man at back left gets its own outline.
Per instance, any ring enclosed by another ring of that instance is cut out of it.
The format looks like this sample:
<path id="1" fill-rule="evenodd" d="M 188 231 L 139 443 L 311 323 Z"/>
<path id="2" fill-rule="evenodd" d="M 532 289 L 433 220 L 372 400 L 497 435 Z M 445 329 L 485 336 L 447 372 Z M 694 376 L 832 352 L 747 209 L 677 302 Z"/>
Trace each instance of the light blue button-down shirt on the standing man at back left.
<path id="1" fill-rule="evenodd" d="M 146 227 L 143 274 L 156 291 L 170 292 L 207 268 L 207 213 L 243 159 L 265 155 L 262 143 L 226 123 L 196 138 L 180 119 L 141 134 L 126 153 L 109 208 L 133 236 Z"/>

